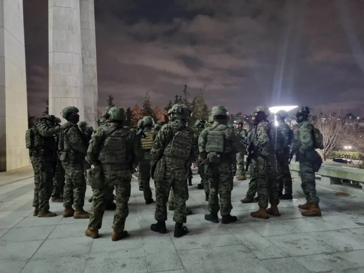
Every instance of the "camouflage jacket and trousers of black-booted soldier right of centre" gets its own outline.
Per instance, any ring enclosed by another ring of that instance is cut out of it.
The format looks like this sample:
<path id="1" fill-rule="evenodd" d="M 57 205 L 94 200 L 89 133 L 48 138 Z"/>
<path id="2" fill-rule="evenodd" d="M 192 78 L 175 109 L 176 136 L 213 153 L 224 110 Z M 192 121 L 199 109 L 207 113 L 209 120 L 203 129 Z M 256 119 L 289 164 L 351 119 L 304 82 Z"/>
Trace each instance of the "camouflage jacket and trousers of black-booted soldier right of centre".
<path id="1" fill-rule="evenodd" d="M 224 137 L 224 143 L 217 143 L 217 138 L 213 139 L 214 146 L 218 149 L 223 147 L 224 152 L 220 154 L 220 163 L 205 163 L 205 174 L 208 178 L 208 209 L 211 213 L 217 213 L 221 206 L 221 216 L 230 214 L 231 205 L 231 190 L 233 186 L 232 176 L 232 159 L 236 157 L 236 152 L 241 151 L 241 146 L 236 137 L 235 131 L 229 128 L 226 124 L 221 124 L 215 121 L 212 127 L 204 129 L 198 138 L 198 149 L 202 159 L 208 158 L 206 146 L 209 141 L 210 131 L 220 131 Z M 211 141 L 212 143 L 212 141 Z M 210 151 L 212 153 L 213 151 Z M 220 206 L 218 195 L 220 195 Z"/>

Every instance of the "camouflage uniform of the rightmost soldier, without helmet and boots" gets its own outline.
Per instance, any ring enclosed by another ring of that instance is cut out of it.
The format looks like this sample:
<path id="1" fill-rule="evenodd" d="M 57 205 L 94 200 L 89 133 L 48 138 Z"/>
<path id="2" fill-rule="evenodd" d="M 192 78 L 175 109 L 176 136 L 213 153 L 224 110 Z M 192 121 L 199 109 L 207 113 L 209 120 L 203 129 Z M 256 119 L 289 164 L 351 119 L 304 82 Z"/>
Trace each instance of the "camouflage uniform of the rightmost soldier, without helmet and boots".
<path id="1" fill-rule="evenodd" d="M 315 166 L 312 158 L 315 158 L 316 151 L 314 149 L 314 126 L 310 121 L 303 121 L 298 125 L 298 133 L 295 139 L 296 158 L 300 162 L 301 187 L 306 196 L 307 202 L 319 204 L 320 199 L 316 192 L 315 182 Z"/>

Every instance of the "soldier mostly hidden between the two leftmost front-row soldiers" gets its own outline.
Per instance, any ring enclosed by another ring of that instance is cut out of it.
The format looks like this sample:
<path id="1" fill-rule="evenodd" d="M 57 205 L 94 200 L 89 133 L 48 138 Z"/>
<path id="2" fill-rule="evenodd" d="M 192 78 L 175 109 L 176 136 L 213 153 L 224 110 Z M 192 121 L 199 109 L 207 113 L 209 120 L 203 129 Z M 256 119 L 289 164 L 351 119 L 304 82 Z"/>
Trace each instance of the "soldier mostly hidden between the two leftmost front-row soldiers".
<path id="1" fill-rule="evenodd" d="M 55 118 L 55 124 L 60 125 L 61 119 Z M 59 133 L 54 136 L 56 141 L 56 149 L 58 149 L 58 140 L 59 140 Z M 63 203 L 63 188 L 64 188 L 64 180 L 65 180 L 65 173 L 62 166 L 62 162 L 58 158 L 58 152 L 54 155 L 54 162 L 53 162 L 53 191 L 52 191 L 52 198 L 51 202 L 54 203 Z"/>

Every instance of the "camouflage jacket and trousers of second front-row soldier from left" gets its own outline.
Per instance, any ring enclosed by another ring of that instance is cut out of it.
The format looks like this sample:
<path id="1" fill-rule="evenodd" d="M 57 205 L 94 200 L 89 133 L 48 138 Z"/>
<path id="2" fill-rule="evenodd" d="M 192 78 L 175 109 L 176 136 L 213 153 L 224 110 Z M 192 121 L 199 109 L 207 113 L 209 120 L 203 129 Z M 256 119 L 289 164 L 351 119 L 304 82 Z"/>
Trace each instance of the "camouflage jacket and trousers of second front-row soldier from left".
<path id="1" fill-rule="evenodd" d="M 85 138 L 77 124 L 67 122 L 61 126 L 64 134 L 63 147 L 59 147 L 59 158 L 66 174 L 63 191 L 63 207 L 82 209 L 85 203 L 86 180 L 84 158 L 87 153 Z M 61 145 L 61 144 L 60 144 Z M 62 155 L 62 156 L 61 156 Z"/>

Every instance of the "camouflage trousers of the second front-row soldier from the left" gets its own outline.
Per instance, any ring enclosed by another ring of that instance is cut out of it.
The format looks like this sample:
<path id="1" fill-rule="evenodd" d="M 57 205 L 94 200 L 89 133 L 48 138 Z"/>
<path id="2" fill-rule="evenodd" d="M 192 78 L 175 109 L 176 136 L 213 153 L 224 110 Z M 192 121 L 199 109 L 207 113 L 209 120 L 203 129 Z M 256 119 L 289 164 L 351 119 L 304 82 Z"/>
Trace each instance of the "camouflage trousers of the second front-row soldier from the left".
<path id="1" fill-rule="evenodd" d="M 85 204 L 86 180 L 83 164 L 62 162 L 66 173 L 66 181 L 63 190 L 63 207 L 81 209 Z"/>

